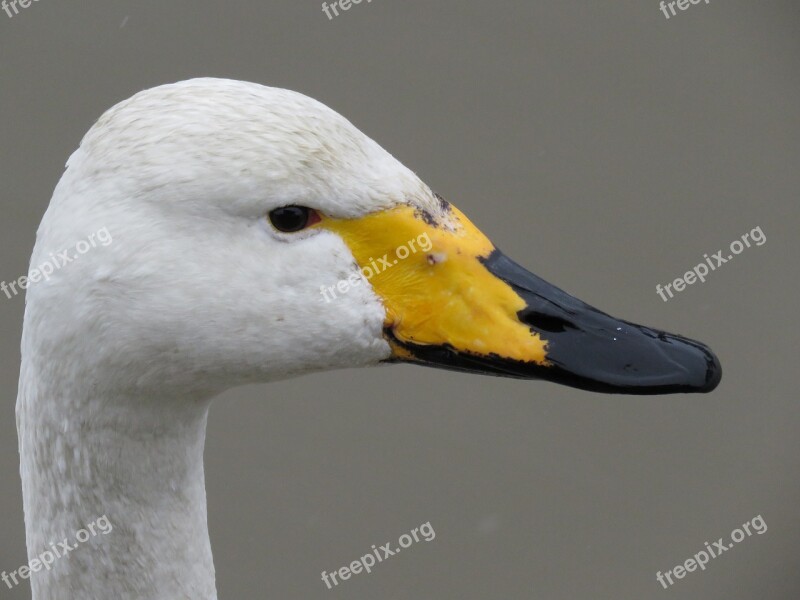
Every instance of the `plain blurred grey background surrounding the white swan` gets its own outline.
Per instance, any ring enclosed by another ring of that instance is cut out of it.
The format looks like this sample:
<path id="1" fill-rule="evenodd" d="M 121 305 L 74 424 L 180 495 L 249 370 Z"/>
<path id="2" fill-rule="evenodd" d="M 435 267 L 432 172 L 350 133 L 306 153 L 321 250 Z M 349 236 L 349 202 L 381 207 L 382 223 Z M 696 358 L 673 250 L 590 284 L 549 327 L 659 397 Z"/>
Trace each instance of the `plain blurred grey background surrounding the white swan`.
<path id="1" fill-rule="evenodd" d="M 40 0 L 0 13 L 0 279 L 112 104 L 224 76 L 332 106 L 509 255 L 612 314 L 701 339 L 708 396 L 614 397 L 410 366 L 226 393 L 206 451 L 220 597 L 800 597 L 796 2 Z M 124 23 L 124 26 L 122 26 Z M 664 303 L 657 283 L 761 226 Z M 0 296 L 0 570 L 25 562 L 23 299 Z M 761 514 L 669 590 L 655 573 Z M 328 591 L 320 572 L 430 521 Z M 27 587 L 0 597 L 25 598 Z"/>

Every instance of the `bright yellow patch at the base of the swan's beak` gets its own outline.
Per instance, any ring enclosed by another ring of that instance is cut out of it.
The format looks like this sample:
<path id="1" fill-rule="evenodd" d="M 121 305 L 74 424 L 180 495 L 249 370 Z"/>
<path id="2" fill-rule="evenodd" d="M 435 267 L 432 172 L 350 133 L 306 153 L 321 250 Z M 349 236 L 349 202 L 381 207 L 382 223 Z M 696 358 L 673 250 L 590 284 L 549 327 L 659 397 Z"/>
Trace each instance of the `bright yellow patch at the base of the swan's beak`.
<path id="1" fill-rule="evenodd" d="M 451 347 L 547 366 L 547 342 L 520 322 L 525 302 L 481 262 L 494 245 L 454 206 L 446 223 L 400 206 L 358 219 L 324 218 L 386 308 L 393 356 L 400 343 Z"/>

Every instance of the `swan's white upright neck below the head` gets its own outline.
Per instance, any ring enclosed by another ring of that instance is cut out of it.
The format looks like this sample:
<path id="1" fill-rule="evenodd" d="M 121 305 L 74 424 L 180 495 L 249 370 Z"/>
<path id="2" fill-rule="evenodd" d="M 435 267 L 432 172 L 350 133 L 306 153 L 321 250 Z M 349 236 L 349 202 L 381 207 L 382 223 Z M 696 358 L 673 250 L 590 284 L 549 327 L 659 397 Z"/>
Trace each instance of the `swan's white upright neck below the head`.
<path id="1" fill-rule="evenodd" d="M 49 375 L 23 356 L 17 425 L 28 559 L 64 540 L 74 549 L 31 573 L 33 599 L 215 600 L 208 400 L 100 395 Z M 95 527 L 76 543 L 99 519 L 110 531 Z"/>

